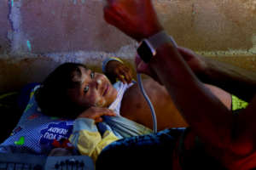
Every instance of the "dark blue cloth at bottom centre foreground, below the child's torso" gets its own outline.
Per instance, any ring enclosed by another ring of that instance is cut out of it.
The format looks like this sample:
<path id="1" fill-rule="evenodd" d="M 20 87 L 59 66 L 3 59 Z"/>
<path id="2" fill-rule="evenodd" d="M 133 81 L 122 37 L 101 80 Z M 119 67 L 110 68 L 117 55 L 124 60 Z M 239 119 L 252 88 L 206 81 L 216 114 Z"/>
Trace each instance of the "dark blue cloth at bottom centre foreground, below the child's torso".
<path id="1" fill-rule="evenodd" d="M 96 168 L 119 169 L 123 165 L 124 169 L 172 169 L 172 153 L 184 130 L 171 128 L 113 142 L 98 156 Z"/>

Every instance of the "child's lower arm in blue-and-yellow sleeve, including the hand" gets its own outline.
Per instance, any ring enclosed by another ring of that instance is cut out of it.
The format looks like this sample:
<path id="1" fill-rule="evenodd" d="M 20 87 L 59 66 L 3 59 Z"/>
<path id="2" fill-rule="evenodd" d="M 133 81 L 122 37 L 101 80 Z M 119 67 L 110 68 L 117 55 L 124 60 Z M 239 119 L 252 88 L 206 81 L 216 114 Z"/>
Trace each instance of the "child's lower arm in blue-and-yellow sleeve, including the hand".
<path id="1" fill-rule="evenodd" d="M 75 120 L 73 133 L 69 138 L 80 154 L 90 156 L 93 161 L 96 161 L 104 147 L 118 139 L 109 130 L 106 130 L 102 135 L 99 133 L 96 122 L 102 122 L 101 116 L 104 115 L 114 116 L 113 112 L 106 108 L 91 107 L 84 111 Z"/>

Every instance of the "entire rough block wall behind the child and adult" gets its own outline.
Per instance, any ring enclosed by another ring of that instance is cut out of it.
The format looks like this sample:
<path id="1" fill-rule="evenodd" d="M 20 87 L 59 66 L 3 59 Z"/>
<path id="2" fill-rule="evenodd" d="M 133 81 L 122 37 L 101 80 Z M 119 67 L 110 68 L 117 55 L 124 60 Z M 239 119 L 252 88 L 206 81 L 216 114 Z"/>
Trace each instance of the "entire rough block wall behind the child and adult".
<path id="1" fill-rule="evenodd" d="M 256 0 L 153 2 L 178 45 L 254 70 Z M 115 55 L 131 64 L 137 43 L 103 20 L 103 5 L 104 0 L 1 0 L 0 93 L 42 81 L 66 61 L 95 67 Z"/>

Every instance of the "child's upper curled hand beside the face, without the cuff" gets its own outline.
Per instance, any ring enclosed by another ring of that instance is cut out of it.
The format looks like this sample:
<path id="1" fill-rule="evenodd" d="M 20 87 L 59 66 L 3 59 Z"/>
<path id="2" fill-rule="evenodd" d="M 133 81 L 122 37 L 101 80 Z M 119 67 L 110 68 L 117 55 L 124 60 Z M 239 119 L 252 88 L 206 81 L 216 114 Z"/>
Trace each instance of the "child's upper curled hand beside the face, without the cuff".
<path id="1" fill-rule="evenodd" d="M 131 69 L 119 61 L 111 60 L 106 65 L 106 76 L 111 82 L 118 78 L 123 83 L 131 83 Z"/>

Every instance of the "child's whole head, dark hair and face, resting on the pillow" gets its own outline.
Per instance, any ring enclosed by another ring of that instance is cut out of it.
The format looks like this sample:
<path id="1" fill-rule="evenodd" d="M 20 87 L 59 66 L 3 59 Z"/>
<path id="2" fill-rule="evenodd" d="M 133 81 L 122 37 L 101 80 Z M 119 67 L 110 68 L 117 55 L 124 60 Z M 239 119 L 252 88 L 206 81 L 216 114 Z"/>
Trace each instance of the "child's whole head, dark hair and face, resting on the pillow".
<path id="1" fill-rule="evenodd" d="M 85 65 L 65 63 L 46 77 L 36 100 L 46 115 L 75 118 L 90 106 L 107 107 L 116 95 L 105 75 Z"/>

